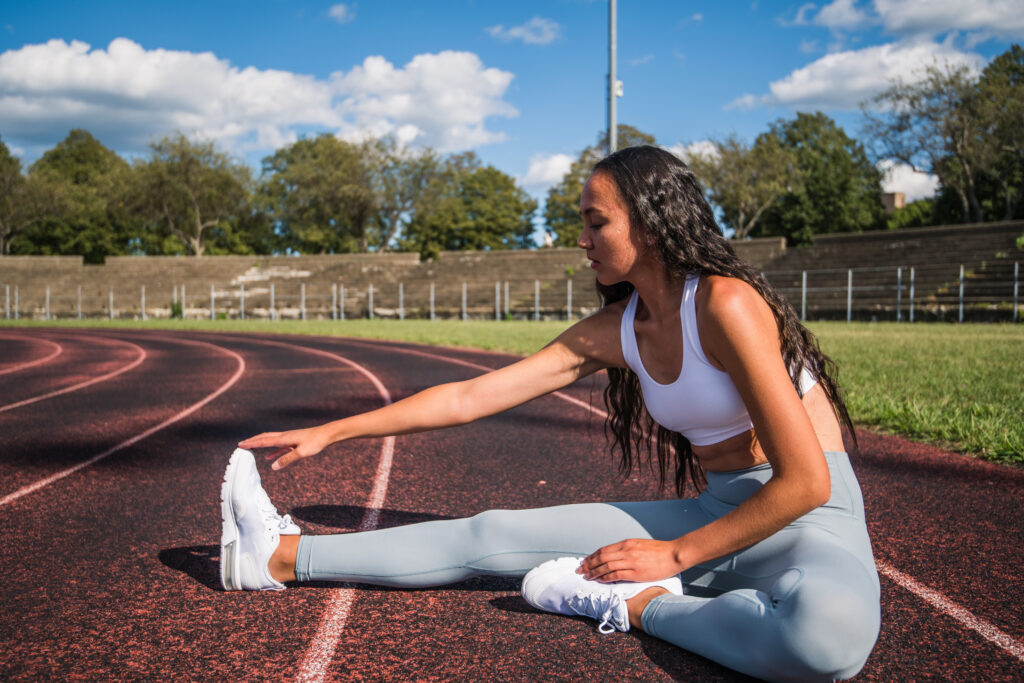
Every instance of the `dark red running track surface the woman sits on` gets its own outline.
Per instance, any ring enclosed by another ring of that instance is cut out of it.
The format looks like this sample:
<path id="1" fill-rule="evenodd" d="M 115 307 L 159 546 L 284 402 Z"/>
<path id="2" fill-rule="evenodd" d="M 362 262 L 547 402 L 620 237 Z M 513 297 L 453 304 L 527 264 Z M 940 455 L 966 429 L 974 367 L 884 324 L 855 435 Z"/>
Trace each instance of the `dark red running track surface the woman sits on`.
<path id="1" fill-rule="evenodd" d="M 144 359 L 115 374 L 136 347 Z M 220 590 L 218 494 L 238 440 L 380 405 L 371 377 L 398 399 L 509 359 L 335 338 L 0 330 L 0 679 L 740 678 L 643 634 L 538 613 L 507 580 Z M 565 393 L 600 404 L 590 381 Z M 1024 678 L 1024 472 L 859 438 L 883 626 L 858 680 Z M 261 462 L 264 484 L 309 532 L 662 496 L 653 481 L 620 480 L 600 418 L 557 396 L 399 437 L 388 472 L 383 445 L 334 446 L 278 473 Z"/>

